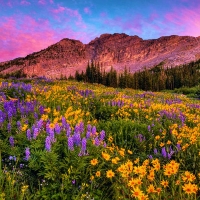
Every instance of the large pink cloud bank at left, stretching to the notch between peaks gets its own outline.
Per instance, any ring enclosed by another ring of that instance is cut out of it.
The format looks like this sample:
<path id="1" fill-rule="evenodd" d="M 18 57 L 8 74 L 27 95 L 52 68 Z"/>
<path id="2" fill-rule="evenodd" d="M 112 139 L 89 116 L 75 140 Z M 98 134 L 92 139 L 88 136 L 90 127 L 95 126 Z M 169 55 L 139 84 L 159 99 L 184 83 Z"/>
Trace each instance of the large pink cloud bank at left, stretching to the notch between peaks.
<path id="1" fill-rule="evenodd" d="M 35 20 L 30 16 L 0 18 L 0 33 L 0 62 L 40 51 L 63 38 L 89 41 L 91 36 L 70 27 L 55 30 L 48 20 Z"/>

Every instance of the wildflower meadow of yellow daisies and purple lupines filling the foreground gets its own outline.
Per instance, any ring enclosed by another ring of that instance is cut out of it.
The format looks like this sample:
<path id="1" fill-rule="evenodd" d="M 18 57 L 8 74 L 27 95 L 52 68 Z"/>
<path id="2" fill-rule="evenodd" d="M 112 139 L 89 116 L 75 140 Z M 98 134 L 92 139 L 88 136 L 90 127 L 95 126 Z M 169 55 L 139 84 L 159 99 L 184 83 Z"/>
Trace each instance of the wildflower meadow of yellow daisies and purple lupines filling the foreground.
<path id="1" fill-rule="evenodd" d="M 200 199 L 200 101 L 0 81 L 0 200 Z"/>

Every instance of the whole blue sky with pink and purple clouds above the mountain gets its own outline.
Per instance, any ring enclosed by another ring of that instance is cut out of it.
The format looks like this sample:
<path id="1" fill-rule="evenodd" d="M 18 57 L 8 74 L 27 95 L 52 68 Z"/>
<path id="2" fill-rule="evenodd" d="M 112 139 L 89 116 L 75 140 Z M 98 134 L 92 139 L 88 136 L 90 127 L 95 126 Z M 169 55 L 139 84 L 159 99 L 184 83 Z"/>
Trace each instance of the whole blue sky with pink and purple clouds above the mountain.
<path id="1" fill-rule="evenodd" d="M 0 0 L 0 62 L 104 33 L 200 36 L 200 0 Z"/>

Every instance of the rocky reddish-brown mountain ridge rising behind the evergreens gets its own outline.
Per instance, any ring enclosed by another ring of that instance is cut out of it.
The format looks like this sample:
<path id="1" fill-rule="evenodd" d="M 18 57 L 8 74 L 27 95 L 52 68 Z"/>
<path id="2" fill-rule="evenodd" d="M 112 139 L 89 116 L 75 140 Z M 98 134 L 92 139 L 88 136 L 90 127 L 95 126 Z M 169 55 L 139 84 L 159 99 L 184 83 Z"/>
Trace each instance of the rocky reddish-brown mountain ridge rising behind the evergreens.
<path id="1" fill-rule="evenodd" d="M 159 63 L 177 66 L 200 59 L 200 37 L 163 36 L 143 40 L 124 33 L 103 34 L 88 44 L 62 39 L 56 44 L 24 58 L 0 63 L 0 73 L 23 70 L 28 76 L 60 77 L 84 71 L 88 61 L 99 62 L 105 70 L 118 72 L 124 67 L 131 72 Z"/>

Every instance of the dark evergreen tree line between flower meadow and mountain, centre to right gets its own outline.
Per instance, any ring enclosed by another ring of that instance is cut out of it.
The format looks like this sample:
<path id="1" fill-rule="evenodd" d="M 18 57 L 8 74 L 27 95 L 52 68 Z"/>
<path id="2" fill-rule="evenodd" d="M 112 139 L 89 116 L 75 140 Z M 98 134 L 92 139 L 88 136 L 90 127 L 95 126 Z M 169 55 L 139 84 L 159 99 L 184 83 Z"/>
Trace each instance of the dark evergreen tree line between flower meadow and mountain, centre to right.
<path id="1" fill-rule="evenodd" d="M 110 87 L 133 88 L 151 91 L 173 90 L 180 87 L 193 87 L 200 83 L 200 60 L 189 64 L 164 68 L 163 63 L 135 73 L 125 67 L 117 73 L 112 67 L 105 72 L 99 63 L 88 63 L 86 71 L 76 71 L 75 79 L 89 83 L 99 83 Z"/>

